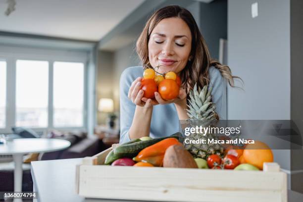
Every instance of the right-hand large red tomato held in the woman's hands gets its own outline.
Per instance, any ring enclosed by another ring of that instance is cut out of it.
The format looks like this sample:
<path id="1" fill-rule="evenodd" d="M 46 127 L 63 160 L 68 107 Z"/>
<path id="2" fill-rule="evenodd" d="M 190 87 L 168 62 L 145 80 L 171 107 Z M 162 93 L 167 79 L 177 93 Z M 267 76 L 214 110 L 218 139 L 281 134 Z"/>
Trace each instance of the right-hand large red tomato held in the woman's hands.
<path id="1" fill-rule="evenodd" d="M 158 92 L 164 100 L 173 100 L 179 95 L 179 86 L 176 81 L 164 79 L 159 83 Z"/>

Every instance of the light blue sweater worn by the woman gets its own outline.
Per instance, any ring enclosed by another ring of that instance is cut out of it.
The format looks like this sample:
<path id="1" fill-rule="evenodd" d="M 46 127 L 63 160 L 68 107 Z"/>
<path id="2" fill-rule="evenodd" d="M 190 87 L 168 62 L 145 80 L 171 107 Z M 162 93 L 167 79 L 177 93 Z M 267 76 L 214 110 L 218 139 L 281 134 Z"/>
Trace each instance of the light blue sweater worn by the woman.
<path id="1" fill-rule="evenodd" d="M 220 119 L 226 117 L 226 82 L 215 67 L 209 68 L 212 101 Z M 130 141 L 129 128 L 132 125 L 136 105 L 128 99 L 128 91 L 137 77 L 143 76 L 143 67 L 129 67 L 120 77 L 120 144 Z M 160 138 L 179 131 L 179 117 L 174 103 L 153 106 L 150 137 Z"/>

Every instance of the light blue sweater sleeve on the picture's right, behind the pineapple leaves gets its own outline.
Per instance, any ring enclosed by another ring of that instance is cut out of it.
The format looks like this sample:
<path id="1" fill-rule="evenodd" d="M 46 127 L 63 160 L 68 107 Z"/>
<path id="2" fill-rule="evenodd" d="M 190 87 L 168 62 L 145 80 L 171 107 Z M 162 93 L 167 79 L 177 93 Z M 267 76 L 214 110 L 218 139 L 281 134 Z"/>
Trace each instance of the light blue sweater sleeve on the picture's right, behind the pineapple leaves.
<path id="1" fill-rule="evenodd" d="M 209 87 L 212 86 L 212 102 L 215 103 L 216 112 L 221 120 L 226 119 L 226 81 L 218 69 L 209 69 Z"/>

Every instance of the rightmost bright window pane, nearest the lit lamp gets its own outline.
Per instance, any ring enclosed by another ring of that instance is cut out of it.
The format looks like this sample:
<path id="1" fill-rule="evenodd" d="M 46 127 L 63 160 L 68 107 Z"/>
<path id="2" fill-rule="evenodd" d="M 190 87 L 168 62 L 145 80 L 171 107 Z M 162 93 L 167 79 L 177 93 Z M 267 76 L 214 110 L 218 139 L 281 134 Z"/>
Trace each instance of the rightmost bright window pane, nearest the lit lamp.
<path id="1" fill-rule="evenodd" d="M 53 63 L 53 125 L 82 127 L 84 111 L 84 64 Z"/>

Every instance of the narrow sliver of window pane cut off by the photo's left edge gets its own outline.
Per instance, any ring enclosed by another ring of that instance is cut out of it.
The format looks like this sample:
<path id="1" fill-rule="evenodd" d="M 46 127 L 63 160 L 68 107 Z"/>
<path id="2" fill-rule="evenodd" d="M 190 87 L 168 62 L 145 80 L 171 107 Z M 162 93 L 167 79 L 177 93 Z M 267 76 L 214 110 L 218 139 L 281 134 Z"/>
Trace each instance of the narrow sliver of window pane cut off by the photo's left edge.
<path id="1" fill-rule="evenodd" d="M 5 128 L 6 61 L 0 61 L 0 128 Z"/>

